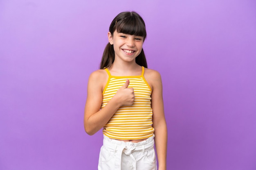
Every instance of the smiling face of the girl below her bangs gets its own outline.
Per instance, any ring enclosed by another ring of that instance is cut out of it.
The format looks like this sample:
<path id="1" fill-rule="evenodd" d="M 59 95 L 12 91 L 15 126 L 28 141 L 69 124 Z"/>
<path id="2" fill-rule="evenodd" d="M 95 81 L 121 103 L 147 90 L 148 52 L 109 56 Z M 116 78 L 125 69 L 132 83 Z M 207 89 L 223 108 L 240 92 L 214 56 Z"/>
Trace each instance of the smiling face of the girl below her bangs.
<path id="1" fill-rule="evenodd" d="M 124 61 L 135 61 L 140 54 L 143 45 L 143 37 L 117 33 L 108 33 L 108 41 L 114 46 L 115 59 L 119 57 Z"/>

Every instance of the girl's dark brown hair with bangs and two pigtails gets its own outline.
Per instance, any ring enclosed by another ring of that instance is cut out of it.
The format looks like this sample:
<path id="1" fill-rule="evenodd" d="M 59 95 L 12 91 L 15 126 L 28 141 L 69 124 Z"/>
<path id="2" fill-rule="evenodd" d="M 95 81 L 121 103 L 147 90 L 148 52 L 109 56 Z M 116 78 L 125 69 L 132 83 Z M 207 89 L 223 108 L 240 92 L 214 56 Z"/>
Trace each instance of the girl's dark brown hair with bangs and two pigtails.
<path id="1" fill-rule="evenodd" d="M 113 35 L 115 30 L 117 30 L 118 33 L 141 36 L 143 37 L 143 41 L 145 41 L 147 35 L 145 22 L 136 12 L 119 13 L 111 22 L 109 27 L 109 32 L 111 35 Z M 114 47 L 108 43 L 102 55 L 100 69 L 109 68 L 114 60 Z M 138 65 L 148 68 L 143 48 L 141 53 L 135 58 L 135 61 Z"/>

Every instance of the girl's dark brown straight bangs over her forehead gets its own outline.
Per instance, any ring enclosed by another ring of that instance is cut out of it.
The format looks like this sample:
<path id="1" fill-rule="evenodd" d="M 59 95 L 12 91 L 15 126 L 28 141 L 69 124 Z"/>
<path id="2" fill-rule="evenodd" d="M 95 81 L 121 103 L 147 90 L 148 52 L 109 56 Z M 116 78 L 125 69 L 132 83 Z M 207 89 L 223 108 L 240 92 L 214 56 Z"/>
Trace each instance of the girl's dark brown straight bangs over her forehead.
<path id="1" fill-rule="evenodd" d="M 118 33 L 136 35 L 146 38 L 145 23 L 133 16 L 117 22 L 116 29 Z"/>

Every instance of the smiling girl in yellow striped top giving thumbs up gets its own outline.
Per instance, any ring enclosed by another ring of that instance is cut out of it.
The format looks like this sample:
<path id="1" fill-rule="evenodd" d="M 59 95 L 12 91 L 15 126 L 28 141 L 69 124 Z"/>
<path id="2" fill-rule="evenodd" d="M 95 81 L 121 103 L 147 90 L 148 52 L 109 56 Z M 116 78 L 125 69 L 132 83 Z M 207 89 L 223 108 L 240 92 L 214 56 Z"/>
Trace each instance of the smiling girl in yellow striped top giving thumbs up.
<path id="1" fill-rule="evenodd" d="M 88 81 L 84 127 L 103 128 L 99 170 L 166 170 L 167 128 L 160 74 L 147 68 L 143 19 L 119 13 L 110 24 L 100 70 Z"/>

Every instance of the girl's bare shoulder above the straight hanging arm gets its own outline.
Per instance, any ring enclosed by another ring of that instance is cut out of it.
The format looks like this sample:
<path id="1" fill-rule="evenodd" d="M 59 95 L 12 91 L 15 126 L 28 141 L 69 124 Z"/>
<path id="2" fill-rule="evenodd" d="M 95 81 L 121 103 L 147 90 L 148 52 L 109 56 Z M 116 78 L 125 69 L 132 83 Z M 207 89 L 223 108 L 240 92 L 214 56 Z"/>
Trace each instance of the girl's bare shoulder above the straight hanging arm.
<path id="1" fill-rule="evenodd" d="M 145 68 L 144 78 L 152 88 L 152 90 L 157 87 L 162 87 L 162 78 L 159 72 L 156 70 Z"/>

